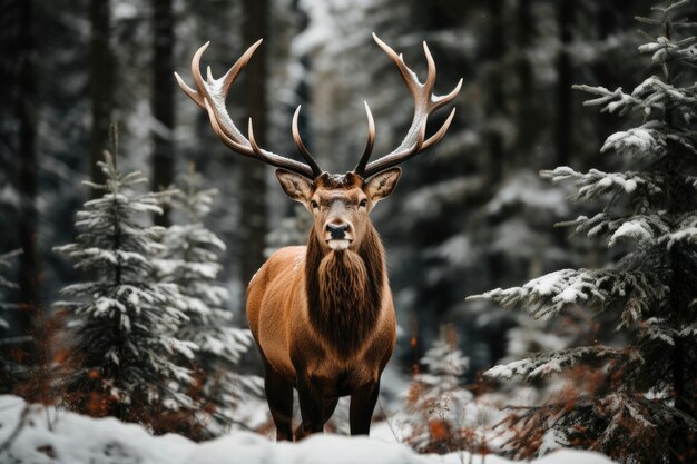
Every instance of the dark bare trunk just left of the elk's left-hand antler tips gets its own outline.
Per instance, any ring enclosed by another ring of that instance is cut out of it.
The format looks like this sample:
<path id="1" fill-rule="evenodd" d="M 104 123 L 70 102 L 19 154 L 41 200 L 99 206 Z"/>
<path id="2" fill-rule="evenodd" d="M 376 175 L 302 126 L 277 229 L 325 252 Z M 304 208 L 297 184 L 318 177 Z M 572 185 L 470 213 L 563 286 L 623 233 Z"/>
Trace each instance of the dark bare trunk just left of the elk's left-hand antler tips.
<path id="1" fill-rule="evenodd" d="M 174 12 L 171 0 L 154 0 L 154 67 L 153 67 L 153 189 L 169 187 L 174 181 L 175 158 L 171 142 L 174 106 Z M 169 208 L 155 216 L 155 224 L 169 225 Z"/>

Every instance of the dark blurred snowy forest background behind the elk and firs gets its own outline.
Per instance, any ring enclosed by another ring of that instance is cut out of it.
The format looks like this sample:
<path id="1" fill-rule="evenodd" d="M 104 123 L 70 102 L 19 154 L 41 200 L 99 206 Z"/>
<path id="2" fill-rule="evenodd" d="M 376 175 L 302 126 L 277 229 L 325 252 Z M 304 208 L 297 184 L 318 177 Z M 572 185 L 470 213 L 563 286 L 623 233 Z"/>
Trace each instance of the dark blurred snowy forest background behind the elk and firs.
<path id="1" fill-rule="evenodd" d="M 375 46 L 377 33 L 420 76 L 421 41 L 438 65 L 435 91 L 464 87 L 449 134 L 409 161 L 395 194 L 374 211 L 400 324 L 397 359 L 420 359 L 440 326 L 457 328 L 468 376 L 504 358 L 513 330 L 533 323 L 468 295 L 519 285 L 562 267 L 610 258 L 552 224 L 582 213 L 540 180 L 556 166 L 611 169 L 599 154 L 621 120 L 581 106 L 573 83 L 631 88 L 647 70 L 632 52 L 635 13 L 648 0 L 3 0 L 0 17 L 0 254 L 22 249 L 13 272 L 20 302 L 11 327 L 42 329 L 58 290 L 78 279 L 51 249 L 76 235 L 73 216 L 99 180 L 95 162 L 120 127 L 120 167 L 157 190 L 194 162 L 220 195 L 208 227 L 226 244 L 222 279 L 244 325 L 244 288 L 274 248 L 305 241 L 306 211 L 272 169 L 232 154 L 175 85 L 195 50 L 222 75 L 258 38 L 233 87 L 238 126 L 255 121 L 261 145 L 297 156 L 291 119 L 303 105 L 305 144 L 327 170 L 351 169 L 365 144 L 363 100 L 376 121 L 375 152 L 399 145 L 412 101 Z M 640 79 L 639 79 L 640 78 Z M 446 111 L 432 118 L 440 127 Z M 169 215 L 171 216 L 171 215 Z M 167 225 L 168 215 L 158 217 Z M 516 338 L 520 343 L 520 337 Z M 530 343 L 543 343 L 540 337 Z M 37 345 L 41 345 L 40 343 Z M 0 347 L 2 348 L 2 347 Z M 7 349 L 7 348 L 2 348 Z M 526 347 L 526 351 L 530 346 Z"/>

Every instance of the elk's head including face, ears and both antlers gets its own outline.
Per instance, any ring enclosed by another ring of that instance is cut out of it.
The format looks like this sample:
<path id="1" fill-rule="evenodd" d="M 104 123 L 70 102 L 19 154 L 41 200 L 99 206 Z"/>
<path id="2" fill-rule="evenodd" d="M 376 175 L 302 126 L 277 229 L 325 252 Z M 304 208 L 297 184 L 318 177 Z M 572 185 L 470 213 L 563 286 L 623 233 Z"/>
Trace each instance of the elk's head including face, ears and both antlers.
<path id="1" fill-rule="evenodd" d="M 370 226 L 369 213 L 375 204 L 386 198 L 401 175 L 397 167 L 401 162 L 424 151 L 436 144 L 448 130 L 455 109 L 453 108 L 445 122 L 429 139 L 425 139 L 426 120 L 436 109 L 452 101 L 462 86 L 462 79 L 450 93 L 434 96 L 435 63 L 426 43 L 423 50 L 428 62 L 428 76 L 421 83 L 416 75 L 406 67 L 401 55 L 373 34 L 373 39 L 396 65 L 414 101 L 414 116 L 406 137 L 392 152 L 369 162 L 375 141 L 375 125 L 367 102 L 367 142 L 363 156 L 355 168 L 346 174 L 328 174 L 323 171 L 310 154 L 297 129 L 298 106 L 293 117 L 292 132 L 298 151 L 305 159 L 300 162 L 261 148 L 254 138 L 252 119 L 248 122 L 248 138 L 235 127 L 226 108 L 227 92 L 239 71 L 249 61 L 262 40 L 245 51 L 237 62 L 219 79 L 214 79 L 210 68 L 207 68 L 207 79 L 200 75 L 200 58 L 208 47 L 204 45 L 196 51 L 192 60 L 192 75 L 196 90 L 187 86 L 175 72 L 177 81 L 184 92 L 205 109 L 216 136 L 233 151 L 256 158 L 271 166 L 275 166 L 276 177 L 287 196 L 305 205 L 314 217 L 314 234 L 326 251 L 355 249 Z"/>

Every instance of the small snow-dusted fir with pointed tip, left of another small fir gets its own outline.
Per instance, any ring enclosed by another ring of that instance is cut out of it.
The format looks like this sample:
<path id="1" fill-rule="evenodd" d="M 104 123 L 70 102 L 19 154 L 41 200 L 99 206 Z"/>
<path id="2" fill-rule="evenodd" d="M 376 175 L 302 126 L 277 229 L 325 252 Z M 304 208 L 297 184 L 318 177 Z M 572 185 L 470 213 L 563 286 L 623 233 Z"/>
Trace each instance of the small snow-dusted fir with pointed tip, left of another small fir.
<path id="1" fill-rule="evenodd" d="M 186 393 L 190 371 L 174 355 L 193 357 L 195 346 L 175 337 L 186 319 L 179 292 L 159 282 L 153 265 L 164 248 L 164 229 L 140 223 L 161 211 L 169 192 L 134 192 L 147 179 L 138 171 L 121 174 L 109 151 L 99 167 L 106 182 L 84 184 L 104 195 L 77 213 L 76 243 L 55 248 L 88 277 L 61 290 L 72 300 L 55 304 L 68 318 L 65 402 L 84 414 L 157 428 L 163 412 L 193 405 Z"/>

